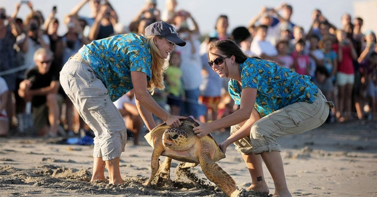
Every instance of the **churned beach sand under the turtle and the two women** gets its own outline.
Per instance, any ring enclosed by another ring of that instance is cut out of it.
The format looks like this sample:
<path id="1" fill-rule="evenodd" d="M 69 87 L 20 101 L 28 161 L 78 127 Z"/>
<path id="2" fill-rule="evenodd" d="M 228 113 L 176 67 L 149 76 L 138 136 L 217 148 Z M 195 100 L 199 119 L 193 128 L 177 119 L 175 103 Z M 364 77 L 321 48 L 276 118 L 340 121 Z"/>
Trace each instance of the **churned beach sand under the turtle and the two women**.
<path id="1" fill-rule="evenodd" d="M 217 142 L 229 133 L 214 132 Z M 92 173 L 91 146 L 58 144 L 61 138 L 2 137 L 0 139 L 0 196 L 206 196 L 226 195 L 211 183 L 200 166 L 191 178 L 175 175 L 180 163 L 173 160 L 172 184 L 142 185 L 150 176 L 152 147 L 143 139 L 139 146 L 127 141 L 120 170 L 122 185 L 89 182 Z M 293 196 L 377 196 L 377 124 L 355 121 L 324 124 L 301 134 L 278 138 L 288 188 Z M 161 162 L 164 157 L 160 157 Z M 244 189 L 251 184 L 241 155 L 230 145 L 226 158 L 217 162 L 236 181 L 241 196 L 267 196 Z M 270 194 L 273 180 L 264 166 Z M 108 176 L 107 172 L 105 173 Z M 270 195 L 271 196 L 271 195 Z"/>

